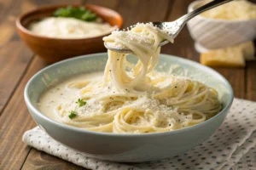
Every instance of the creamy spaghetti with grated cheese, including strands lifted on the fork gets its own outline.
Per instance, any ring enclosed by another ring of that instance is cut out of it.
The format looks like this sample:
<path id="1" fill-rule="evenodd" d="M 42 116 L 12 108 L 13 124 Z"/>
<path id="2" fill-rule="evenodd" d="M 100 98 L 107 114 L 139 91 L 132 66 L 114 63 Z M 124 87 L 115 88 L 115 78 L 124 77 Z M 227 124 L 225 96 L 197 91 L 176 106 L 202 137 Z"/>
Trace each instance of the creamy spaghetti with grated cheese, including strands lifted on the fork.
<path id="1" fill-rule="evenodd" d="M 158 44 L 165 39 L 173 41 L 152 24 L 138 24 L 130 31 L 104 37 L 114 46 L 130 48 L 137 64 L 127 61 L 127 54 L 108 51 L 103 78 L 63 82 L 73 97 L 55 106 L 55 120 L 105 133 L 159 133 L 216 115 L 221 110 L 216 90 L 186 77 L 154 71 Z M 77 99 L 86 104 L 79 105 Z M 71 112 L 74 118 L 69 117 Z"/>

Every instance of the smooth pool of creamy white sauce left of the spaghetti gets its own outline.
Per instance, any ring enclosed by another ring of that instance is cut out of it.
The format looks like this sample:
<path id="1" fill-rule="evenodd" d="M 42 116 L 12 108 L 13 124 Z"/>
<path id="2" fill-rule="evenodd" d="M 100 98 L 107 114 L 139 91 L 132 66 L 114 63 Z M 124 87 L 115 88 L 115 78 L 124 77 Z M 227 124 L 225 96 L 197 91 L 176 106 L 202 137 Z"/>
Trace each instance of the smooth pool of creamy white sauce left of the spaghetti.
<path id="1" fill-rule="evenodd" d="M 76 101 L 80 98 L 79 88 L 73 88 L 72 90 L 66 88 L 68 82 L 83 82 L 91 79 L 102 79 L 103 72 L 95 72 L 90 74 L 83 74 L 76 77 L 67 78 L 67 80 L 57 83 L 55 86 L 47 89 L 42 94 L 38 101 L 38 109 L 42 111 L 44 115 L 49 116 L 55 121 L 61 122 L 54 113 L 54 108 L 59 103 L 68 103 Z"/>

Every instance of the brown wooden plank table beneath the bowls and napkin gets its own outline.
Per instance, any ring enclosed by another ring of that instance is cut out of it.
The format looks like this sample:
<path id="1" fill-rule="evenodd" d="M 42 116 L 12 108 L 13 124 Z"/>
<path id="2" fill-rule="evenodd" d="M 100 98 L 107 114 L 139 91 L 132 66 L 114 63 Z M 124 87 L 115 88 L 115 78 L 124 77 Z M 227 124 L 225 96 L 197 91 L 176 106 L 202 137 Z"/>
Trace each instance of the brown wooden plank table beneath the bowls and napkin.
<path id="1" fill-rule="evenodd" d="M 35 122 L 26 109 L 23 91 L 26 82 L 46 64 L 26 47 L 15 31 L 15 18 L 42 5 L 70 3 L 69 0 L 0 0 L 0 169 L 84 169 L 34 150 L 21 141 Z M 93 3 L 117 10 L 125 27 L 137 22 L 175 20 L 187 12 L 191 0 L 75 0 L 73 3 Z M 162 48 L 162 53 L 199 60 L 189 31 L 184 28 L 174 44 Z M 256 101 L 256 61 L 246 68 L 215 68 L 234 88 L 236 98 Z"/>

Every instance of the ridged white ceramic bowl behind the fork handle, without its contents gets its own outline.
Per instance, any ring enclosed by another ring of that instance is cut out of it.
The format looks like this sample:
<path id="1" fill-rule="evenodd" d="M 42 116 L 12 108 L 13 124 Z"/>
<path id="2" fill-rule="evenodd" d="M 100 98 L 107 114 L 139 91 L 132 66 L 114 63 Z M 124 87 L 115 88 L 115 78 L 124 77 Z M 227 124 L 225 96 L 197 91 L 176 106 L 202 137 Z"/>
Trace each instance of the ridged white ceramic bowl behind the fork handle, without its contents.
<path id="1" fill-rule="evenodd" d="M 190 3 L 189 12 L 204 1 Z M 256 20 L 217 20 L 201 15 L 189 20 L 191 37 L 203 48 L 214 49 L 232 46 L 256 37 Z"/>

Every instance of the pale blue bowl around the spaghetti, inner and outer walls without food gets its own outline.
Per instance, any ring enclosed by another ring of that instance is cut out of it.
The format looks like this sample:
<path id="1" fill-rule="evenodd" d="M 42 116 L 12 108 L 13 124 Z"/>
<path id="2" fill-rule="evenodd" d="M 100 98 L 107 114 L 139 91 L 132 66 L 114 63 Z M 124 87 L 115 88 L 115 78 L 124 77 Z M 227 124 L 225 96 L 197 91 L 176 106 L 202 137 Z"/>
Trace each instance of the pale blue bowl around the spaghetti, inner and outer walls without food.
<path id="1" fill-rule="evenodd" d="M 217 71 L 200 65 L 189 59 L 182 59 L 172 55 L 160 54 L 158 70 L 168 71 L 172 65 L 180 65 L 180 70 L 192 73 L 194 79 L 201 80 L 218 90 L 223 111 L 206 122 L 193 127 L 186 127 L 166 133 L 147 134 L 115 134 L 90 132 L 78 127 L 71 127 L 55 122 L 44 116 L 37 109 L 36 103 L 40 94 L 49 86 L 62 78 L 72 77 L 81 73 L 103 71 L 108 55 L 90 54 L 66 59 L 54 65 L 49 65 L 34 75 L 25 88 L 25 101 L 32 118 L 53 139 L 74 150 L 83 152 L 87 156 L 108 161 L 139 162 L 156 161 L 176 156 L 186 150 L 194 148 L 207 139 L 224 122 L 233 100 L 233 90 L 230 83 Z M 188 76 L 188 75 L 187 75 Z"/>

